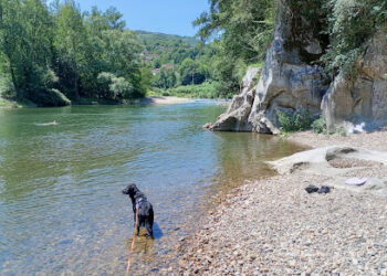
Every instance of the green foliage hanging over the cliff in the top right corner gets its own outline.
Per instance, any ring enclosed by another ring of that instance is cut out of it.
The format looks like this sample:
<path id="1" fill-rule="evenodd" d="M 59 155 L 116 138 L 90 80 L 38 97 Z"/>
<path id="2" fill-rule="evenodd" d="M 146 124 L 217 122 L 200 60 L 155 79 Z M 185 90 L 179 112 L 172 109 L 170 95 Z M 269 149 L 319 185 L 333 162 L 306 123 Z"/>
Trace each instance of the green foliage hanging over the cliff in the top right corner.
<path id="1" fill-rule="evenodd" d="M 327 53 L 322 57 L 330 73 L 355 75 L 354 63 L 365 50 L 365 43 L 386 22 L 385 0 L 325 0 L 331 38 Z"/>

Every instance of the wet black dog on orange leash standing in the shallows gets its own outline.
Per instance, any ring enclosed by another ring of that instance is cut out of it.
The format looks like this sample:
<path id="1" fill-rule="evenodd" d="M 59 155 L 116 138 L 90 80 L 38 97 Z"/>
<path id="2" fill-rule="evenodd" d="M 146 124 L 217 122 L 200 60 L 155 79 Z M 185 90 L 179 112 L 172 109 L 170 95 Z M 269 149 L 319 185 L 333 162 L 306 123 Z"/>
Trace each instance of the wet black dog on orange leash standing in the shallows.
<path id="1" fill-rule="evenodd" d="M 142 193 L 136 184 L 129 184 L 123 190 L 124 194 L 128 194 L 132 204 L 133 212 L 135 213 L 136 222 L 136 208 L 138 208 L 138 223 L 137 223 L 137 235 L 139 234 L 139 227 L 145 226 L 147 231 L 147 236 L 154 236 L 154 209 L 150 202 L 146 199 L 144 193 Z"/>

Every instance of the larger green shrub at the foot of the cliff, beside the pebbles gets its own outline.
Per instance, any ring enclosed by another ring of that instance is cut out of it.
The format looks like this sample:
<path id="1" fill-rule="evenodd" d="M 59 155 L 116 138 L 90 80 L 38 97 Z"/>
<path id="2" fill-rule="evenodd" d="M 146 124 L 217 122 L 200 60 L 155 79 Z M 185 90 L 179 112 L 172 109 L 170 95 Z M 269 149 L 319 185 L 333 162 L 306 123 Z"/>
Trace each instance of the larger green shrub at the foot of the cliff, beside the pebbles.
<path id="1" fill-rule="evenodd" d="M 312 119 L 308 110 L 295 112 L 292 115 L 278 110 L 276 116 L 284 132 L 302 131 L 311 128 Z"/>

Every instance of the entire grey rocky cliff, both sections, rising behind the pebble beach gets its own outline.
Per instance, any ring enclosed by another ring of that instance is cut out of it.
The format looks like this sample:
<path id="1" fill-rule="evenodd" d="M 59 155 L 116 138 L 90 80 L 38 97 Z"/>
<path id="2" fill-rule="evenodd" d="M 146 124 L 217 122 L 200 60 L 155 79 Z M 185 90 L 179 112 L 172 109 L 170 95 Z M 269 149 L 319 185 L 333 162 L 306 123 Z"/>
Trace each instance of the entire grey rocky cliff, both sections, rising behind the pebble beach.
<path id="1" fill-rule="evenodd" d="M 326 50 L 326 38 L 324 41 L 318 30 L 310 28 L 311 22 L 294 15 L 300 12 L 291 1 L 278 2 L 274 38 L 262 72 L 248 72 L 241 94 L 210 129 L 278 134 L 279 110 L 289 115 L 308 110 L 313 117 L 323 114 L 330 132 L 338 127 L 351 132 L 386 124 L 387 25 L 374 35 L 354 65 L 355 77 L 339 73 L 332 82 L 332 76 L 315 65 Z"/>

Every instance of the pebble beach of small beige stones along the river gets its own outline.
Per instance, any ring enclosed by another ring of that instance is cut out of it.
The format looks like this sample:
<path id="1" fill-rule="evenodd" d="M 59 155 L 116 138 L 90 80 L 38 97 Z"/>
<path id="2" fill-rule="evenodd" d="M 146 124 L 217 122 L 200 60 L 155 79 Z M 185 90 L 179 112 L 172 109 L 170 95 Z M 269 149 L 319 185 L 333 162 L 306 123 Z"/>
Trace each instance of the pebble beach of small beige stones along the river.
<path id="1" fill-rule="evenodd" d="M 311 148 L 386 150 L 386 135 L 385 130 L 349 137 L 302 132 L 287 139 Z M 386 177 L 386 166 L 373 173 Z M 386 275 L 386 198 L 345 189 L 327 194 L 304 190 L 332 180 L 300 170 L 232 191 L 181 245 L 179 273 Z"/>

